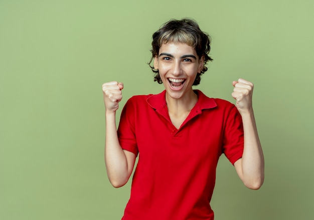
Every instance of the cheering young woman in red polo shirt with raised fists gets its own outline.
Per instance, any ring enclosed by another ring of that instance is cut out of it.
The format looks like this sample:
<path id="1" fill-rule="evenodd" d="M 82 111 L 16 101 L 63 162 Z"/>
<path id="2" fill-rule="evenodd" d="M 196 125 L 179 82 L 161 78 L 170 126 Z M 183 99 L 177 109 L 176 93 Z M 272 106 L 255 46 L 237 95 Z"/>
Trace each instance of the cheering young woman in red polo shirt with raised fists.
<path id="1" fill-rule="evenodd" d="M 118 130 L 115 112 L 123 84 L 102 86 L 106 110 L 105 163 L 114 187 L 133 175 L 124 220 L 214 219 L 210 200 L 224 153 L 243 183 L 258 189 L 264 159 L 252 108 L 253 84 L 233 81 L 236 104 L 208 98 L 193 85 L 212 59 L 210 37 L 189 19 L 171 20 L 153 34 L 154 80 L 165 90 L 125 104 Z"/>

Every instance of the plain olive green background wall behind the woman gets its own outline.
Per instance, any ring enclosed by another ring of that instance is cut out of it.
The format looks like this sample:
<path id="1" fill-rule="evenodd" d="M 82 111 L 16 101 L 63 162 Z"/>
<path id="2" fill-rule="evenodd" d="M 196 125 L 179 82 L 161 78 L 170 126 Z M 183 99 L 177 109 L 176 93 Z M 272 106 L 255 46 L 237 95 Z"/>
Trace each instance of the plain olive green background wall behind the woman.
<path id="1" fill-rule="evenodd" d="M 255 84 L 265 182 L 247 189 L 222 156 L 215 219 L 314 219 L 310 0 L 0 0 L 0 219 L 121 218 L 130 183 L 106 176 L 101 85 L 124 83 L 120 106 L 162 91 L 151 35 L 184 17 L 213 40 L 195 88 L 233 102 L 233 80 Z"/>

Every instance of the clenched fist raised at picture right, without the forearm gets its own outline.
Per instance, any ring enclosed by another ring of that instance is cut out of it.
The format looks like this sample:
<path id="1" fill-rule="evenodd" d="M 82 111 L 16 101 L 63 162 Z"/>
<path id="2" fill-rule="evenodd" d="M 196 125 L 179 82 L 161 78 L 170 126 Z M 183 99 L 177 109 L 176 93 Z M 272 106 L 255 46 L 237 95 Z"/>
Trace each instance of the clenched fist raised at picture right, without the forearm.
<path id="1" fill-rule="evenodd" d="M 242 114 L 251 111 L 253 109 L 253 83 L 244 79 L 239 79 L 238 81 L 233 81 L 232 85 L 234 86 L 232 97 L 236 100 L 236 107 L 239 112 Z"/>

